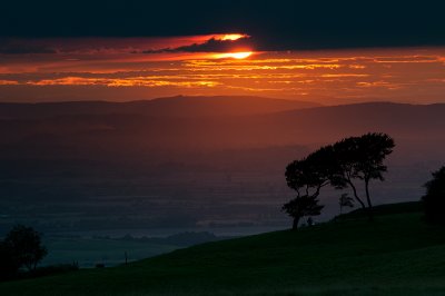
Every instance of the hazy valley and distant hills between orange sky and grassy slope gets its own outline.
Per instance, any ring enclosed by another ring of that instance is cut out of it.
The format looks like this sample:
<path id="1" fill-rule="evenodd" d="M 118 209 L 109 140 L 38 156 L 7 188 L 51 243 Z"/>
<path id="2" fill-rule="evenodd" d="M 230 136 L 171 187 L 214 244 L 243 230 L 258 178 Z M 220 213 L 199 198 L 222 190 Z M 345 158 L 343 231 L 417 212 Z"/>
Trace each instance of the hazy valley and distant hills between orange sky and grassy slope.
<path id="1" fill-rule="evenodd" d="M 368 131 L 396 141 L 387 181 L 372 184 L 376 203 L 418 200 L 445 158 L 444 114 L 445 105 L 320 107 L 249 97 L 0 103 L 0 227 L 283 229 L 289 220 L 280 205 L 293 196 L 286 165 Z M 317 219 L 338 214 L 339 195 L 322 194 L 327 207 Z"/>

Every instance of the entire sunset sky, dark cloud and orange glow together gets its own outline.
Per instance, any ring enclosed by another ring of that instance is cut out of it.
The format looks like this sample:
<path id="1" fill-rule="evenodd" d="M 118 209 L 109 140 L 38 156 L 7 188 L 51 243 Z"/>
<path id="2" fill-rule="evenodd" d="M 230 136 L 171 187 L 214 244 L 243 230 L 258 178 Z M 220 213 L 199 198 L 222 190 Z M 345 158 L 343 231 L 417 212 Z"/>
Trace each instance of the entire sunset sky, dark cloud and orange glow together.
<path id="1" fill-rule="evenodd" d="M 7 16 L 0 101 L 251 95 L 326 105 L 445 102 L 445 40 L 435 31 L 444 21 L 436 14 L 386 6 L 357 17 L 335 7 L 334 17 L 309 18 L 303 12 L 314 7 L 281 2 L 288 9 L 269 11 L 259 1 L 243 12 L 248 1 L 231 1 L 235 11 L 209 4 L 197 14 L 194 2 L 187 13 L 169 14 L 162 4 L 141 4 L 142 18 L 131 4 L 75 6 L 61 18 L 39 6 L 43 18 Z"/>

